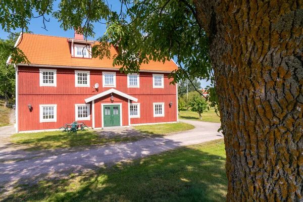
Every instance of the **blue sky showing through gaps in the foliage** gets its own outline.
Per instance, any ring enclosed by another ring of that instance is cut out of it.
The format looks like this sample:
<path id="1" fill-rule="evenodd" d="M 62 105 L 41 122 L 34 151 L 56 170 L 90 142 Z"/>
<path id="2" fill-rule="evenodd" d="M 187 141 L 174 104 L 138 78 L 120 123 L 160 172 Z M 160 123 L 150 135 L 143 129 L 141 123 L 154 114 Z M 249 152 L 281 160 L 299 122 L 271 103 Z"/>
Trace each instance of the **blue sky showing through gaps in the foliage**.
<path id="1" fill-rule="evenodd" d="M 56 1 L 55 5 L 53 7 L 55 11 L 58 9 L 58 3 L 59 2 Z M 111 0 L 110 3 L 112 6 L 112 10 L 115 10 L 117 12 L 120 11 L 121 3 L 119 0 Z M 60 28 L 60 23 L 58 22 L 57 19 L 52 18 L 51 16 L 46 17 L 46 19 L 48 19 L 48 18 L 50 18 L 49 22 L 45 22 L 47 30 L 42 28 L 42 27 L 44 27 L 42 18 L 31 19 L 30 24 L 28 26 L 29 30 L 35 34 L 74 37 L 74 32 L 75 32 L 74 30 L 64 31 L 62 28 Z M 21 31 L 21 30 L 16 30 L 16 32 L 17 31 Z M 105 31 L 106 31 L 106 26 L 104 24 L 95 23 L 94 24 L 94 32 L 96 33 L 95 37 L 94 38 L 88 37 L 88 40 L 97 39 L 99 36 L 102 36 L 105 33 Z M 8 37 L 8 33 L 1 30 L 0 38 L 6 39 L 7 37 Z M 206 82 L 206 80 L 201 80 L 201 87 L 206 87 L 209 84 L 210 84 L 210 82 Z"/>

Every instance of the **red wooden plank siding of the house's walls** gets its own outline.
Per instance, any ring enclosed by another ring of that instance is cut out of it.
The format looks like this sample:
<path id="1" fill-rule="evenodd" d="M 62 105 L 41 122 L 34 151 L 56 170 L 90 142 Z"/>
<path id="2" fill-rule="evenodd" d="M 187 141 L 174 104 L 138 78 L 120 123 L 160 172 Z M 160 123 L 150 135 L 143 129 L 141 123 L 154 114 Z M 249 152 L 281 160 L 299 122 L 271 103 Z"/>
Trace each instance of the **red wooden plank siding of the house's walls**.
<path id="1" fill-rule="evenodd" d="M 81 69 L 82 71 L 90 71 L 91 87 L 75 87 L 75 69 L 45 67 L 41 67 L 41 69 L 57 69 L 57 87 L 39 86 L 38 67 L 19 66 L 19 131 L 56 129 L 65 123 L 71 123 L 75 121 L 75 104 L 85 104 L 85 98 L 112 88 L 103 88 L 102 86 L 102 72 L 109 72 L 108 70 Z M 169 84 L 172 80 L 168 79 L 167 73 L 164 76 L 164 88 L 153 88 L 153 73 L 149 72 L 140 72 L 139 88 L 127 88 L 127 75 L 116 72 L 115 89 L 138 98 L 137 103 L 140 103 L 140 118 L 131 118 L 130 124 L 177 121 L 176 86 Z M 95 83 L 99 83 L 98 91 L 92 88 Z M 107 95 L 95 100 L 96 128 L 102 127 L 101 104 L 111 103 L 110 96 Z M 122 124 L 127 126 L 129 125 L 128 99 L 116 94 L 114 96 L 114 104 L 122 103 Z M 173 103 L 171 108 L 169 107 L 170 102 Z M 165 117 L 153 116 L 153 103 L 165 103 Z M 32 112 L 29 112 L 28 104 L 33 106 Z M 57 104 L 57 122 L 40 123 L 39 105 L 43 104 Z M 92 103 L 90 102 L 89 104 L 90 118 L 92 118 Z M 91 119 L 84 122 L 88 126 L 92 126 Z"/>

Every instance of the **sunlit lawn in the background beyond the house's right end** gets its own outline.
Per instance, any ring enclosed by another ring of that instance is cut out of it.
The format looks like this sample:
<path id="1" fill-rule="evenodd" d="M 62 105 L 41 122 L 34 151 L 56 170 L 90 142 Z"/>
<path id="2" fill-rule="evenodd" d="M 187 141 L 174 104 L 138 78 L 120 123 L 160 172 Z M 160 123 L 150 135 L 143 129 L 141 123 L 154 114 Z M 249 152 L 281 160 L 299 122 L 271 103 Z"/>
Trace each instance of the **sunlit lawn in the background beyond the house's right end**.
<path id="1" fill-rule="evenodd" d="M 210 109 L 210 111 L 201 114 L 202 119 L 199 119 L 199 114 L 197 112 L 180 111 L 179 119 L 195 120 L 195 121 L 206 121 L 220 123 L 220 117 L 217 116 L 215 109 Z"/>

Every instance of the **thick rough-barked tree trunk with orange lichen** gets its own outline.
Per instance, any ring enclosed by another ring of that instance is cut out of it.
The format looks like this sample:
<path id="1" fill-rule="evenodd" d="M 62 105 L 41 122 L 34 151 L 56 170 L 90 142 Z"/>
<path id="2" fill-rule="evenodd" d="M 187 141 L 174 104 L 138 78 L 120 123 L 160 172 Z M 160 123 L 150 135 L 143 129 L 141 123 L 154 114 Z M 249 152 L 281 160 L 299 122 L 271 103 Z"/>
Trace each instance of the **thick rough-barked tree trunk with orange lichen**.
<path id="1" fill-rule="evenodd" d="M 303 1 L 194 5 L 210 39 L 227 201 L 303 201 Z"/>

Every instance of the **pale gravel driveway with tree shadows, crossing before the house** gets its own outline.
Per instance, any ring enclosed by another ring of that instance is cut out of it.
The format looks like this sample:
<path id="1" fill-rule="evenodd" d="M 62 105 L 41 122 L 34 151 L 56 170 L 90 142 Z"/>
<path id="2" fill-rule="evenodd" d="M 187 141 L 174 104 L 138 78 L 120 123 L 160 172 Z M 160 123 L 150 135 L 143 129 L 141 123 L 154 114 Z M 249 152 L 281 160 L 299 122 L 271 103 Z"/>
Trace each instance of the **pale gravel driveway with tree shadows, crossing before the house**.
<path id="1" fill-rule="evenodd" d="M 135 142 L 120 143 L 99 148 L 73 151 L 14 163 L 0 163 L 0 184 L 59 173 L 81 172 L 105 164 L 128 161 L 154 155 L 190 144 L 223 138 L 218 133 L 219 123 L 180 120 L 195 126 L 194 129 L 164 137 L 146 138 Z M 0 156 L 13 157 L 10 151 L 0 150 Z M 26 157 L 25 157 L 26 159 Z"/>

